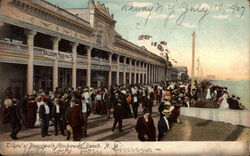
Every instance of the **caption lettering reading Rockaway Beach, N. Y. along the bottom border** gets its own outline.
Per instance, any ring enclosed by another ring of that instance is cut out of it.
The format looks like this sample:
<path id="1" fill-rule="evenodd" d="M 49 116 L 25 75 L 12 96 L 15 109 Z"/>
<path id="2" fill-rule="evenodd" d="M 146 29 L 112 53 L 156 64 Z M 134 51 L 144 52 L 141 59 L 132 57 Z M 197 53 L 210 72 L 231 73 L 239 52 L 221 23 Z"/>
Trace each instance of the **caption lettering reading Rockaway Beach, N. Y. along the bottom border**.
<path id="1" fill-rule="evenodd" d="M 72 142 L 72 143 L 6 143 L 6 151 L 18 151 L 23 156 L 46 155 L 107 155 L 117 153 L 151 153 L 151 148 L 124 145 L 122 142 Z"/>

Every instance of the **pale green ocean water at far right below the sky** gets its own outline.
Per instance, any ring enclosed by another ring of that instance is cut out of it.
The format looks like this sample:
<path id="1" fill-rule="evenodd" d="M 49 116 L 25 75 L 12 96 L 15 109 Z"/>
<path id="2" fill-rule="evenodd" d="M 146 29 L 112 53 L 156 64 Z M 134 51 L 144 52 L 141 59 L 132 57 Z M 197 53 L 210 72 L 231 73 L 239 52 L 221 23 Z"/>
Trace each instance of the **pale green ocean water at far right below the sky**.
<path id="1" fill-rule="evenodd" d="M 212 83 L 222 87 L 227 87 L 229 95 L 231 96 L 234 94 L 235 96 L 239 96 L 242 105 L 250 110 L 250 80 L 216 80 L 212 81 Z"/>

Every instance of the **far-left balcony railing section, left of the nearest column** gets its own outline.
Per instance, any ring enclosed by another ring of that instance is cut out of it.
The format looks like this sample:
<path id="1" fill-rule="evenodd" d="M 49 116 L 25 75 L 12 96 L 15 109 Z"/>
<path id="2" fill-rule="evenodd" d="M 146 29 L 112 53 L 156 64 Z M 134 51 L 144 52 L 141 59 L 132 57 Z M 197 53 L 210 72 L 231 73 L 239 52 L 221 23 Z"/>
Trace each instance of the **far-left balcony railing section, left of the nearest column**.
<path id="1" fill-rule="evenodd" d="M 0 50 L 5 52 L 20 53 L 20 54 L 29 53 L 29 47 L 27 45 L 7 42 L 2 40 L 0 41 Z"/>

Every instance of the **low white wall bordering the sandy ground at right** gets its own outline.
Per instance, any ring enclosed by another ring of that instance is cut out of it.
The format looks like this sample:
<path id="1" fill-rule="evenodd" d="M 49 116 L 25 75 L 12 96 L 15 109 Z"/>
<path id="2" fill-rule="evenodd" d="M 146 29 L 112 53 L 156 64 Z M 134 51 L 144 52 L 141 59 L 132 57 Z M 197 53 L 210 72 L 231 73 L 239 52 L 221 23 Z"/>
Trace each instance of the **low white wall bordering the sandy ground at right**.
<path id="1" fill-rule="evenodd" d="M 181 115 L 250 127 L 250 111 L 181 107 Z"/>

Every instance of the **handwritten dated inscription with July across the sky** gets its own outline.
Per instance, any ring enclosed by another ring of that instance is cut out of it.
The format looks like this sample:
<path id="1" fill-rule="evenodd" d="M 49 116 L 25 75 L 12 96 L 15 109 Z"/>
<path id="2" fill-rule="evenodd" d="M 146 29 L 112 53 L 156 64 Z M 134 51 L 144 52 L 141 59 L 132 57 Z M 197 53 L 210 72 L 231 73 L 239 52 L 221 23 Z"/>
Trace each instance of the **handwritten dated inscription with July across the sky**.
<path id="1" fill-rule="evenodd" d="M 146 16 L 144 25 L 147 26 L 149 19 L 153 16 L 164 17 L 164 28 L 166 28 L 170 18 L 175 17 L 175 23 L 181 25 L 183 22 L 189 20 L 189 17 L 196 17 L 198 25 L 205 20 L 211 13 L 219 13 L 225 15 L 226 12 L 231 12 L 232 15 L 237 15 L 237 17 L 242 18 L 245 13 L 245 6 L 241 6 L 238 1 L 234 4 L 225 5 L 224 3 L 217 3 L 214 6 L 209 6 L 208 4 L 198 3 L 194 4 L 191 2 L 180 2 L 176 0 L 176 3 L 155 3 L 150 6 L 137 7 L 133 2 L 127 2 L 121 7 L 122 12 L 130 13 L 143 13 Z"/>

